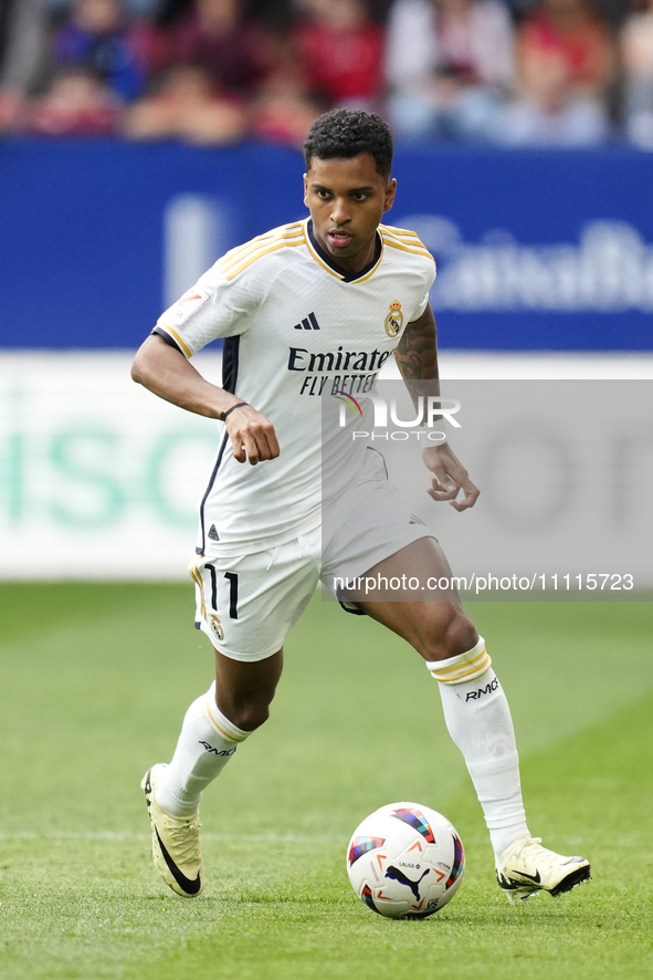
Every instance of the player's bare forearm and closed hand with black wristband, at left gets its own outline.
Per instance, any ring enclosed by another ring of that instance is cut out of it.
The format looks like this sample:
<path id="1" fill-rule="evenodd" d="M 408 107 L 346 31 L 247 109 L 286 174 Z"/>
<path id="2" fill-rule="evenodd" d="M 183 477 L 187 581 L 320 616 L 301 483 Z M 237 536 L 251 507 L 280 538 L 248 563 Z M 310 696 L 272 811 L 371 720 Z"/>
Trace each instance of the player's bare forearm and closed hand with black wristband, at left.
<path id="1" fill-rule="evenodd" d="M 238 395 L 203 378 L 183 354 L 158 334 L 151 334 L 141 344 L 134 358 L 131 377 L 159 398 L 208 418 L 221 418 L 223 413 L 242 403 Z M 239 462 L 247 460 L 255 466 L 278 456 L 274 426 L 251 405 L 235 408 L 224 425 Z"/>

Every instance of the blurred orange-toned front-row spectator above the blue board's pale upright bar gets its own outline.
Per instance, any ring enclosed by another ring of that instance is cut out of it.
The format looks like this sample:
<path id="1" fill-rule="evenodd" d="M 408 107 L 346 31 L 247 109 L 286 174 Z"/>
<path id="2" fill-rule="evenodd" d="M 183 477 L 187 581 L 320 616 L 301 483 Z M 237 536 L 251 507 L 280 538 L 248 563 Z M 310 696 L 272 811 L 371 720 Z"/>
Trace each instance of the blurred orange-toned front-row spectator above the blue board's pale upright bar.
<path id="1" fill-rule="evenodd" d="M 213 76 L 199 65 L 176 65 L 158 92 L 125 112 L 129 139 L 182 139 L 203 146 L 236 143 L 246 129 L 246 112 L 215 90 Z"/>

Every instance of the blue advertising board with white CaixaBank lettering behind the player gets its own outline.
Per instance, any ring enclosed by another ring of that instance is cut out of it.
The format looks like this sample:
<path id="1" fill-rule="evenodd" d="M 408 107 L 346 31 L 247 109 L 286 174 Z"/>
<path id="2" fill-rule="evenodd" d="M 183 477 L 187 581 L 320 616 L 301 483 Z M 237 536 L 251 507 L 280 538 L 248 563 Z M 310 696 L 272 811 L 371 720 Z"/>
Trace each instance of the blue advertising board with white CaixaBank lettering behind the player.
<path id="1" fill-rule="evenodd" d="M 134 348 L 225 249 L 304 217 L 301 155 L 0 143 L 0 346 Z M 651 351 L 653 155 L 398 148 L 450 348 Z"/>

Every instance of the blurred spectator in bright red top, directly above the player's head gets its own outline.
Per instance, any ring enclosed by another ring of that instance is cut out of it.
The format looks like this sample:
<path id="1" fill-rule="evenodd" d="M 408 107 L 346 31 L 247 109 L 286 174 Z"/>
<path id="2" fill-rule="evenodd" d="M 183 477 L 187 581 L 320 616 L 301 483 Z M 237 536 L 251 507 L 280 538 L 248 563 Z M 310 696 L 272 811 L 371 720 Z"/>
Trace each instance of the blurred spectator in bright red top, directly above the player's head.
<path id="1" fill-rule="evenodd" d="M 309 88 L 329 105 L 370 108 L 381 96 L 383 30 L 366 0 L 312 0 L 294 32 Z"/>

